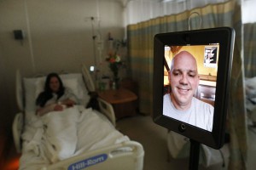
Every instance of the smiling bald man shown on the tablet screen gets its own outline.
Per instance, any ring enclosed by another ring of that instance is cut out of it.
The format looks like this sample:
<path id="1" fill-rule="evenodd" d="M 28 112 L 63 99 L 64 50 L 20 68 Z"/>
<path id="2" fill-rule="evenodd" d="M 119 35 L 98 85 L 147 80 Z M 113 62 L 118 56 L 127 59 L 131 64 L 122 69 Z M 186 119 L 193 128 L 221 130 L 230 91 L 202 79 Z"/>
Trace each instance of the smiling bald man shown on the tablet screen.
<path id="1" fill-rule="evenodd" d="M 212 132 L 214 108 L 193 97 L 200 81 L 195 57 L 187 51 L 176 54 L 168 78 L 172 93 L 164 95 L 163 114 Z"/>

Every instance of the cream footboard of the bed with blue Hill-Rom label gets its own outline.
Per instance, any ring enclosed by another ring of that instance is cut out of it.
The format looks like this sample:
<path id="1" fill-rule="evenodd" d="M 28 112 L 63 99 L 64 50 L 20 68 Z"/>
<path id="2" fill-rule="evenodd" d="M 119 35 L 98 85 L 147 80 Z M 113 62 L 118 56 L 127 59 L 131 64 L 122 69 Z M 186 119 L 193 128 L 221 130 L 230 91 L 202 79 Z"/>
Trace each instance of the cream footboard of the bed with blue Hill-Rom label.
<path id="1" fill-rule="evenodd" d="M 143 145 L 135 141 L 125 141 L 103 147 L 98 150 L 90 150 L 79 156 L 73 156 L 64 161 L 59 161 L 44 170 L 54 169 L 113 169 L 113 170 L 143 170 Z"/>

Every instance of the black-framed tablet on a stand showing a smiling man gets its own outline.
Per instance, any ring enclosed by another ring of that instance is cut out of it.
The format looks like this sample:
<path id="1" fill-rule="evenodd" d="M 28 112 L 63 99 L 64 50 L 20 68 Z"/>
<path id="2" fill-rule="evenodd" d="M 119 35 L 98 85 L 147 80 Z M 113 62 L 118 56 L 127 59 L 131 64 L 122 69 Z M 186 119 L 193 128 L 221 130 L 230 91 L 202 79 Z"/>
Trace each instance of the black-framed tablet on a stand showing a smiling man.
<path id="1" fill-rule="evenodd" d="M 234 41 L 230 27 L 154 36 L 155 123 L 214 149 L 223 146 Z"/>

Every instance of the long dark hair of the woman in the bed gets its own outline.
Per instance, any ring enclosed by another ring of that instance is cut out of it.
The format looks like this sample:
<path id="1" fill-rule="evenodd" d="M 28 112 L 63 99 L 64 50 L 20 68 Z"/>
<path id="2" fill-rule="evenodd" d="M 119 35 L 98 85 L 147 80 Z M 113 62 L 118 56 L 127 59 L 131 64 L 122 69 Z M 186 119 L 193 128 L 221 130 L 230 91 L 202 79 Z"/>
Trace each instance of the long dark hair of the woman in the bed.
<path id="1" fill-rule="evenodd" d="M 44 83 L 44 92 L 42 92 L 41 94 L 38 95 L 38 99 L 36 100 L 36 105 L 40 105 L 41 107 L 44 107 L 46 102 L 53 97 L 52 90 L 49 87 L 49 82 L 52 77 L 56 77 L 58 79 L 58 81 L 60 82 L 60 89 L 56 93 L 58 96 L 57 99 L 60 99 L 61 96 L 64 94 L 65 88 L 61 81 L 61 77 L 59 77 L 59 75 L 54 72 L 49 73 L 49 75 L 46 77 L 46 81 Z"/>

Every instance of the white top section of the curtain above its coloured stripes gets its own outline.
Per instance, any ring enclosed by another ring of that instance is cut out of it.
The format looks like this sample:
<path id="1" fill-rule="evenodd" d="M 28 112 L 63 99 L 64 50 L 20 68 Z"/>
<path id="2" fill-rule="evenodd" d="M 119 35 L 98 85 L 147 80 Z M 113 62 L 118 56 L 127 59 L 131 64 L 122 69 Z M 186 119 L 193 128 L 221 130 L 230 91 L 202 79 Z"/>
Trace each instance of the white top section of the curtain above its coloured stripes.
<path id="1" fill-rule="evenodd" d="M 182 13 L 185 10 L 199 8 L 209 3 L 223 3 L 228 0 L 124 0 L 125 23 L 136 24 L 169 14 Z M 239 0 L 240 1 L 240 0 Z"/>

